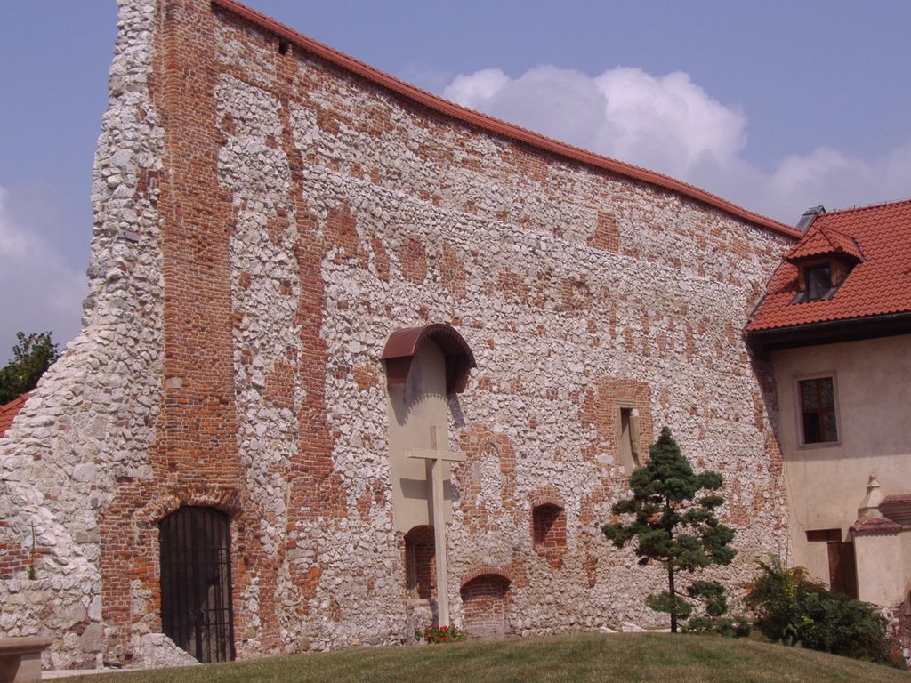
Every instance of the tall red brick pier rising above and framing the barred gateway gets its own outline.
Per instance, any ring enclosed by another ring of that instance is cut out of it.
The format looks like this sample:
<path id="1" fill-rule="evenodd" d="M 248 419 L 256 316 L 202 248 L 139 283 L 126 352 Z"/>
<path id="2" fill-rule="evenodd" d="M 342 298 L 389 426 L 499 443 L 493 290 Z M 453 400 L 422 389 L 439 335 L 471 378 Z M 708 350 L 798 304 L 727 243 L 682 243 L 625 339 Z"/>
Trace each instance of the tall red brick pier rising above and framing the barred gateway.
<path id="1" fill-rule="evenodd" d="M 150 91 L 167 131 L 160 174 L 165 363 L 152 480 L 118 480 L 100 518 L 103 615 L 118 627 L 110 657 L 128 661 L 133 627 L 160 628 L 158 521 L 180 505 L 213 505 L 232 516 L 235 603 L 254 572 L 262 589 L 258 635 L 278 646 L 277 567 L 262 561 L 258 511 L 241 484 L 234 404 L 235 370 L 229 236 L 233 209 L 217 175 L 222 144 L 214 127 L 219 69 L 208 3 L 174 0 L 162 12 Z M 244 500 L 243 503 L 240 501 Z M 232 501 L 231 505 L 226 502 Z M 243 556 L 244 561 L 240 558 Z M 138 582 L 151 596 L 136 613 Z M 235 610 L 236 632 L 256 617 Z"/>

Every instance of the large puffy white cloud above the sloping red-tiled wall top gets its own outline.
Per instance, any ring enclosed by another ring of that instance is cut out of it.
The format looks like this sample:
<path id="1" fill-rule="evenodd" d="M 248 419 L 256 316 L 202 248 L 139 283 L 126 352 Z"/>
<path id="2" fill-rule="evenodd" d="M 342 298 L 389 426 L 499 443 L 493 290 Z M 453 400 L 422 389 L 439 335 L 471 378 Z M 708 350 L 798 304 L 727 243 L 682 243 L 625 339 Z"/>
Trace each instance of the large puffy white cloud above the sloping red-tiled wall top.
<path id="1" fill-rule="evenodd" d="M 873 160 L 818 148 L 763 172 L 743 156 L 742 109 L 713 99 L 682 72 L 651 76 L 617 67 L 591 77 L 537 66 L 510 78 L 484 69 L 455 77 L 443 96 L 789 224 L 815 204 L 841 209 L 911 195 L 911 143 Z"/>

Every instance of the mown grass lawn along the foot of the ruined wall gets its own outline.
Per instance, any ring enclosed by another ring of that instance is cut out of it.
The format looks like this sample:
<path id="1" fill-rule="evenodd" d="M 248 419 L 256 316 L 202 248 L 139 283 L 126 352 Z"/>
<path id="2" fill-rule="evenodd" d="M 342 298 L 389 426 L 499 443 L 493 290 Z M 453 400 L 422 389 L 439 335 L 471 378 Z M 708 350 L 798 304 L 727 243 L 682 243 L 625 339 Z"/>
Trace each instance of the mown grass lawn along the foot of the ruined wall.
<path id="1" fill-rule="evenodd" d="M 504 683 L 509 681 L 844 681 L 911 683 L 911 673 L 752 639 L 578 634 L 374 647 L 205 667 L 69 678 L 70 683 Z"/>

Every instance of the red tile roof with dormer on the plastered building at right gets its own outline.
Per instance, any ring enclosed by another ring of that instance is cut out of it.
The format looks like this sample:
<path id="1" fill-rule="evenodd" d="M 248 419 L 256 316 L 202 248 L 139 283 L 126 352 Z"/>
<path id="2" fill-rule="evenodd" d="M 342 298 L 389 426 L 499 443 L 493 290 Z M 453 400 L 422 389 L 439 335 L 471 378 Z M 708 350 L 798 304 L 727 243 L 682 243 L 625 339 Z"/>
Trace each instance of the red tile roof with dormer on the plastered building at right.
<path id="1" fill-rule="evenodd" d="M 792 303 L 798 270 L 791 261 L 823 253 L 850 254 L 863 261 L 832 298 Z M 752 312 L 747 331 L 911 312 L 911 200 L 820 214 L 785 259 Z"/>

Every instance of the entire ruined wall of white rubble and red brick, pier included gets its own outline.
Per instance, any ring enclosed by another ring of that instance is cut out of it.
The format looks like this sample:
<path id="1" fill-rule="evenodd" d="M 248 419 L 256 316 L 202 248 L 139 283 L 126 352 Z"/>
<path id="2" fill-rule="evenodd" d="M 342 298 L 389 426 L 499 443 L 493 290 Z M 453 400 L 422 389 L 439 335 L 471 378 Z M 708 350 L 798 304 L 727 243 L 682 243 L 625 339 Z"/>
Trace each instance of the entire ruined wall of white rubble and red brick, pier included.
<path id="1" fill-rule="evenodd" d="M 448 399 L 455 624 L 660 623 L 660 570 L 599 531 L 628 494 L 619 404 L 642 454 L 667 424 L 724 474 L 740 555 L 712 576 L 783 547 L 771 373 L 741 330 L 791 238 L 446 117 L 219 3 L 119 13 L 84 331 L 0 440 L 0 635 L 53 637 L 53 668 L 171 660 L 158 524 L 211 505 L 239 657 L 411 640 L 428 612 L 380 356 L 431 322 L 477 362 Z M 561 508 L 556 555 L 536 505 Z"/>

